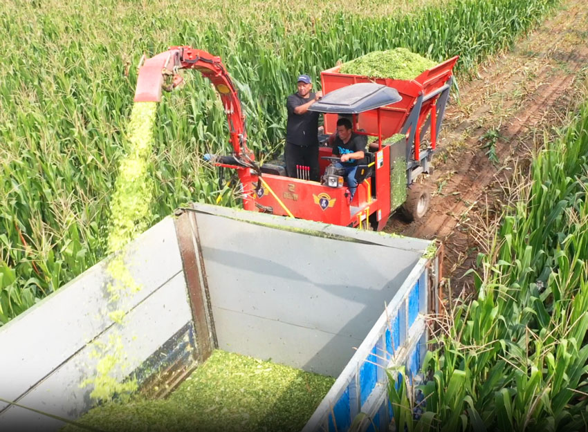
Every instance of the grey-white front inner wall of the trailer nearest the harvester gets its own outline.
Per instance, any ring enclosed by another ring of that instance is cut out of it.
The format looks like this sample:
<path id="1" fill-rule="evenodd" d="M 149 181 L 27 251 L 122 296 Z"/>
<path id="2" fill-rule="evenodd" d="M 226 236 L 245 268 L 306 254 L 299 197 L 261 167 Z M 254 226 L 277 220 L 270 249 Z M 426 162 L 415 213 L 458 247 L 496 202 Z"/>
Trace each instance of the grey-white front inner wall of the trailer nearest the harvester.
<path id="1" fill-rule="evenodd" d="M 333 377 L 430 245 L 211 210 L 196 219 L 219 348 Z"/>

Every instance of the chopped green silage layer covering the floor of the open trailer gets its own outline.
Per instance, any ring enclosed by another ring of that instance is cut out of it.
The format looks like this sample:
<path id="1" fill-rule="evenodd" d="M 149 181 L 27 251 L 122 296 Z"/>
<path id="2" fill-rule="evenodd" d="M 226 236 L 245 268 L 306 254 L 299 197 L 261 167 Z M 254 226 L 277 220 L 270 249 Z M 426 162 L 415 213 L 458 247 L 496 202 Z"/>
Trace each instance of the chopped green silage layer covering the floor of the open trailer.
<path id="1" fill-rule="evenodd" d="M 300 431 L 334 382 L 215 350 L 166 400 L 111 402 L 78 421 L 109 432 Z"/>

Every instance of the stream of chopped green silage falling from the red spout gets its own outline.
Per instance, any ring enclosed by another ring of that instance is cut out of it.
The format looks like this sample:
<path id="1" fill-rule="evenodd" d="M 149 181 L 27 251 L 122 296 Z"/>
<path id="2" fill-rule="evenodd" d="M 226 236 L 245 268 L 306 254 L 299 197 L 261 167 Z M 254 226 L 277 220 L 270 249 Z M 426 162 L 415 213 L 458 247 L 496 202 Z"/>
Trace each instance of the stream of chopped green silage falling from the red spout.
<path id="1" fill-rule="evenodd" d="M 155 102 L 141 102 L 133 106 L 131 120 L 127 126 L 128 147 L 126 156 L 120 161 L 115 191 L 111 200 L 111 220 L 108 235 L 107 264 L 110 282 L 107 286 L 109 303 L 116 303 L 121 297 L 140 290 L 125 263 L 125 246 L 138 234 L 147 229 L 151 221 L 151 196 L 153 180 L 148 175 L 148 162 L 153 146 L 153 129 L 157 105 Z M 109 312 L 109 318 L 116 324 L 123 323 L 125 311 L 116 309 Z M 116 328 L 115 330 L 118 330 Z M 107 401 L 113 395 L 132 393 L 137 389 L 136 380 L 119 383 L 116 379 L 120 369 L 125 368 L 125 351 L 120 334 L 115 332 L 107 344 L 93 343 L 90 357 L 98 359 L 96 375 L 82 382 L 92 385 L 90 396 L 95 400 Z"/>

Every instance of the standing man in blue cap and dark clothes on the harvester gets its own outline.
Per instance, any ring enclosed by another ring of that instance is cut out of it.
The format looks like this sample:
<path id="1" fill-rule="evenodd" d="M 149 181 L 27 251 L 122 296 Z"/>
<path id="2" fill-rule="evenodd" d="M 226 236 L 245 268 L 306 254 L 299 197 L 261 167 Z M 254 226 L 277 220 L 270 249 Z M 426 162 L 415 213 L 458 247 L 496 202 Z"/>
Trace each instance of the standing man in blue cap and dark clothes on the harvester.
<path id="1" fill-rule="evenodd" d="M 286 124 L 286 173 L 296 177 L 296 165 L 310 167 L 310 179 L 318 182 L 318 115 L 309 111 L 309 106 L 322 97 L 322 92 L 312 92 L 313 83 L 309 75 L 300 75 L 297 93 L 288 96 L 288 122 Z"/>

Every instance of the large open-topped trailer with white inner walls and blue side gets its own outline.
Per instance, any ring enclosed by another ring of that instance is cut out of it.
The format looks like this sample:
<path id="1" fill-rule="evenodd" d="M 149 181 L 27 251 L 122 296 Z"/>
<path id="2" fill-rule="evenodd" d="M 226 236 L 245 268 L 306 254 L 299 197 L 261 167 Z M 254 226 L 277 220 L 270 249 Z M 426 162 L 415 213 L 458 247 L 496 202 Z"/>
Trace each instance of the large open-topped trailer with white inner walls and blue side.
<path id="1" fill-rule="evenodd" d="M 416 238 L 194 204 L 124 253 L 140 291 L 109 301 L 105 260 L 0 328 L 1 431 L 88 411 L 92 346 L 116 333 L 116 378 L 153 397 L 221 348 L 336 377 L 304 431 L 347 431 L 360 412 L 385 430 L 385 368 L 417 373 L 439 308 L 441 258 Z"/>

